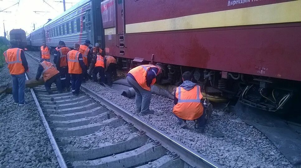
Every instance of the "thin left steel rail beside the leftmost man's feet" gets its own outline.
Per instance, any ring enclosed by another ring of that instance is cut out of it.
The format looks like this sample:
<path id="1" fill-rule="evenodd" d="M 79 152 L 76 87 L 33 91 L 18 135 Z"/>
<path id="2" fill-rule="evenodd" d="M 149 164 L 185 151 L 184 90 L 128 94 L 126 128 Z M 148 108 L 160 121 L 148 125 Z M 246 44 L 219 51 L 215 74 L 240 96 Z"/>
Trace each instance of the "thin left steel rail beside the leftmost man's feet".
<path id="1" fill-rule="evenodd" d="M 27 53 L 27 54 L 28 54 L 28 53 Z M 26 76 L 26 80 L 28 80 L 28 77 L 27 77 L 26 74 L 25 74 L 25 76 Z M 48 125 L 48 122 L 46 121 L 46 118 L 45 118 L 45 116 L 44 116 L 44 113 L 43 113 L 43 111 L 42 111 L 42 108 L 41 108 L 41 106 L 40 106 L 40 104 L 39 104 L 39 102 L 38 102 L 38 99 L 36 98 L 36 94 L 35 94 L 35 92 L 33 91 L 32 88 L 30 88 L 30 91 L 31 91 L 31 95 L 32 95 L 33 99 L 35 100 L 36 107 L 38 108 L 38 111 L 39 111 L 39 113 L 40 113 L 40 117 L 41 117 L 41 119 L 42 119 L 42 122 L 43 122 L 43 125 L 44 125 L 44 127 L 45 127 L 45 130 L 46 130 L 46 133 L 47 133 L 47 135 L 48 135 L 48 138 L 50 139 L 50 144 L 51 144 L 51 146 L 52 146 L 52 148 L 53 148 L 53 150 L 54 150 L 56 159 L 57 159 L 57 161 L 59 162 L 59 165 L 60 165 L 61 168 L 67 168 L 67 165 L 66 165 L 66 163 L 65 163 L 65 160 L 64 160 L 62 154 L 60 153 L 60 149 L 59 149 L 58 145 L 56 144 L 55 138 L 53 137 L 53 134 L 52 134 L 52 132 L 51 132 L 51 130 L 50 130 L 50 127 L 49 127 L 49 125 Z"/>

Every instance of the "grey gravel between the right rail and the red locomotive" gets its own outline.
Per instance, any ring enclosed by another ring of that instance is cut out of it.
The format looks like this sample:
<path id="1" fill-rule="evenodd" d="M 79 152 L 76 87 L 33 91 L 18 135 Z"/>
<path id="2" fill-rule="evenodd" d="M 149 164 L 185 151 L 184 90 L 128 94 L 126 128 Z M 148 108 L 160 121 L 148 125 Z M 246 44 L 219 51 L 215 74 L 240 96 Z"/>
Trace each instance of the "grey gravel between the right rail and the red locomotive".
<path id="1" fill-rule="evenodd" d="M 194 122 L 188 121 L 189 129 L 179 128 L 174 117 L 173 100 L 152 94 L 150 109 L 155 114 L 141 116 L 135 113 L 135 99 L 127 98 L 93 82 L 82 84 L 99 95 L 116 103 L 127 111 L 169 134 L 174 139 L 193 148 L 223 167 L 293 167 L 274 144 L 259 130 L 245 122 L 236 122 L 234 113 L 215 109 L 213 118 L 204 134 L 194 130 Z M 214 137 L 222 133 L 224 137 Z"/>

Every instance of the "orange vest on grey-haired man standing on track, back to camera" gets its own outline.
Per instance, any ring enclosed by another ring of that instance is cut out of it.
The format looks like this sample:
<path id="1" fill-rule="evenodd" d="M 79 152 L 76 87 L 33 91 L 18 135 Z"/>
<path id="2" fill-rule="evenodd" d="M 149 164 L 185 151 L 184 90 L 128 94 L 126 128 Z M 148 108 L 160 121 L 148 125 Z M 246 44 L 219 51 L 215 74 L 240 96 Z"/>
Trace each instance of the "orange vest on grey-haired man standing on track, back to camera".
<path id="1" fill-rule="evenodd" d="M 71 50 L 67 54 L 69 73 L 81 74 L 82 67 L 79 64 L 79 51 Z"/>

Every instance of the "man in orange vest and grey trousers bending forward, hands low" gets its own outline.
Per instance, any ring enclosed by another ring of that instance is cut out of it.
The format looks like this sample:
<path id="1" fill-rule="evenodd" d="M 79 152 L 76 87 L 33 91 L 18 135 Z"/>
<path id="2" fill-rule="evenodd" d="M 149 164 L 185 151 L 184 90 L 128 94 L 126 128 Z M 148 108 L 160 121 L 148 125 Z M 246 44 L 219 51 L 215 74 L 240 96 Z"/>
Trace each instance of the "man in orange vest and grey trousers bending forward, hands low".
<path id="1" fill-rule="evenodd" d="M 141 112 L 141 115 L 154 113 L 154 110 L 150 110 L 150 86 L 155 84 L 156 76 L 162 72 L 163 68 L 164 66 L 160 63 L 140 65 L 127 73 L 127 82 L 136 91 L 136 113 Z"/>

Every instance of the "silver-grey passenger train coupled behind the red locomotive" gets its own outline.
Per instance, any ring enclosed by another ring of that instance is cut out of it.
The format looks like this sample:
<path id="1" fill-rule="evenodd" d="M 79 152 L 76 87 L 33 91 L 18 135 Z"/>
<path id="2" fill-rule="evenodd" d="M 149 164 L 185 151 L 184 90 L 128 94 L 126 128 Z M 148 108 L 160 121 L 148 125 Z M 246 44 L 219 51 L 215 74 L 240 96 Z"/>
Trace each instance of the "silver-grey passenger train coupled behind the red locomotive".
<path id="1" fill-rule="evenodd" d="M 100 2 L 101 0 L 80 1 L 46 23 L 44 27 L 31 32 L 30 40 L 27 41 L 33 47 L 40 47 L 45 39 L 47 45 L 54 49 L 60 40 L 64 41 L 67 47 L 72 48 L 74 43 L 81 44 L 88 39 L 91 44 L 98 42 L 101 47 L 104 47 Z"/>

